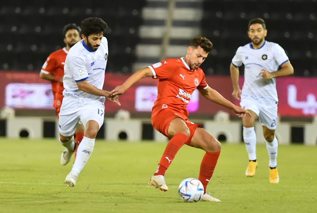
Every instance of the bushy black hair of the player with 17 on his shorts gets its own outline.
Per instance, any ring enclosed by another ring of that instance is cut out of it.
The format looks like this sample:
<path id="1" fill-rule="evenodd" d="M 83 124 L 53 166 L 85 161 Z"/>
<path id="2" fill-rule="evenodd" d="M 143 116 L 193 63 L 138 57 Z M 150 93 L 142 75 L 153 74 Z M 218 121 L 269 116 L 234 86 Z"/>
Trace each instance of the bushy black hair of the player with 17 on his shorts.
<path id="1" fill-rule="evenodd" d="M 103 34 L 107 28 L 107 23 L 98 17 L 86 18 L 81 22 L 81 32 L 86 37 L 91 34 Z"/>

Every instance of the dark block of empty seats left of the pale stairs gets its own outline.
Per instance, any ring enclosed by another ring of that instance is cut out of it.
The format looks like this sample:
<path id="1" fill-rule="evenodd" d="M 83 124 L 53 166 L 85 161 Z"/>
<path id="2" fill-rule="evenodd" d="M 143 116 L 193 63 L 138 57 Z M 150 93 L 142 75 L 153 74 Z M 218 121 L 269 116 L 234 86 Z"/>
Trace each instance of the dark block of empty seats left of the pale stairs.
<path id="1" fill-rule="evenodd" d="M 81 25 L 87 17 L 100 17 L 109 26 L 106 72 L 131 72 L 135 60 L 141 9 L 146 0 L 87 2 L 55 0 L 3 0 L 0 5 L 0 69 L 39 71 L 53 51 L 64 46 L 62 29 L 68 23 Z M 9 57 L 10 56 L 10 57 Z M 109 60 L 110 61 L 110 60 Z"/>

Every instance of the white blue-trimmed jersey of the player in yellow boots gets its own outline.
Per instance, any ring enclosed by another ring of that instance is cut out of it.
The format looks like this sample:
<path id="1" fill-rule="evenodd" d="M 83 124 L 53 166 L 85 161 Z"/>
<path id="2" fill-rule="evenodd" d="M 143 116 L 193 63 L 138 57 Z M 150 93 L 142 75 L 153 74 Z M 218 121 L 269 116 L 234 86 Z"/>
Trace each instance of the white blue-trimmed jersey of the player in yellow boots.
<path id="1" fill-rule="evenodd" d="M 253 49 L 251 42 L 239 47 L 232 59 L 232 64 L 237 67 L 244 64 L 241 99 L 248 97 L 266 107 L 276 106 L 278 102 L 276 79 L 263 79 L 259 73 L 263 68 L 268 72 L 275 72 L 288 60 L 284 49 L 274 42 L 264 41 L 262 47 L 258 49 Z"/>

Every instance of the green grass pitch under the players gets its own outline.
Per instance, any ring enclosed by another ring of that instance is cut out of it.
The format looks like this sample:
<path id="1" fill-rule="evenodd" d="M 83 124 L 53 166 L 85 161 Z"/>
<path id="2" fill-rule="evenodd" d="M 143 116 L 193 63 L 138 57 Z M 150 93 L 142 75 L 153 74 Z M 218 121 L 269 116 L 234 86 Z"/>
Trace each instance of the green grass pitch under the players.
<path id="1" fill-rule="evenodd" d="M 184 146 L 165 174 L 166 192 L 147 184 L 166 143 L 97 140 L 77 185 L 63 183 L 73 160 L 60 165 L 55 139 L 0 138 L 0 213 L 284 213 L 317 210 L 317 147 L 279 146 L 280 183 L 268 180 L 268 153 L 257 145 L 254 177 L 244 172 L 244 144 L 222 143 L 222 152 L 207 188 L 221 203 L 184 203 L 179 183 L 198 178 L 204 151 Z"/>

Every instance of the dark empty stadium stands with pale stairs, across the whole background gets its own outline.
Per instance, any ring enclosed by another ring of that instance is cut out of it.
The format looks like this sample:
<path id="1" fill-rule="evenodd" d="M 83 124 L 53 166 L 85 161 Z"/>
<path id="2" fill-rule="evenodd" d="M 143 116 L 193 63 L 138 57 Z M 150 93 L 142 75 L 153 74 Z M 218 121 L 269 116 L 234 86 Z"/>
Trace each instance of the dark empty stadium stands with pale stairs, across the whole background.
<path id="1" fill-rule="evenodd" d="M 84 18 L 100 17 L 109 26 L 105 36 L 109 41 L 109 59 L 113 60 L 109 60 L 106 72 L 132 72 L 135 62 L 140 63 L 137 66 L 140 68 L 159 60 L 159 53 L 155 57 L 150 56 L 154 53 L 138 55 L 136 48 L 148 52 L 148 45 L 161 45 L 167 5 L 162 0 L 117 0 L 96 5 L 64 0 L 3 0 L 0 68 L 30 68 L 32 64 L 31 70 L 40 70 L 49 53 L 64 46 L 61 31 L 65 24 L 80 25 Z M 160 13 L 155 12 L 159 10 Z M 237 47 L 249 42 L 249 20 L 260 17 L 267 23 L 266 39 L 285 49 L 294 66 L 294 75 L 317 76 L 317 46 L 313 45 L 317 41 L 316 16 L 314 0 L 182 0 L 176 2 L 170 45 L 186 47 L 196 34 L 209 38 L 214 50 L 201 67 L 207 74 L 229 75 L 229 64 Z M 179 53 L 177 50 L 174 48 L 173 54 L 182 53 L 182 49 Z M 23 54 L 34 58 L 30 61 L 18 58 Z"/>

